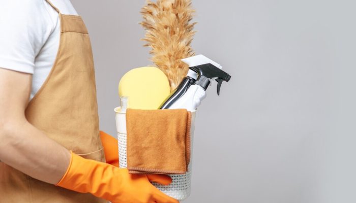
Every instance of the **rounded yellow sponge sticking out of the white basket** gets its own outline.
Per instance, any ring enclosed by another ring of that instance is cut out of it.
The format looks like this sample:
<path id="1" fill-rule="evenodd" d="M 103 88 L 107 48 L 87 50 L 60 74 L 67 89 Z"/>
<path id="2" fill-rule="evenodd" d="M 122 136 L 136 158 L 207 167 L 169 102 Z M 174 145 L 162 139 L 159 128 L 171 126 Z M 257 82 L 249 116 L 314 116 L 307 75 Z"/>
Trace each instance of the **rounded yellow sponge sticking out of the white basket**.
<path id="1" fill-rule="evenodd" d="M 118 95 L 129 97 L 131 109 L 158 109 L 169 93 L 168 79 L 157 67 L 132 69 L 118 84 Z"/>

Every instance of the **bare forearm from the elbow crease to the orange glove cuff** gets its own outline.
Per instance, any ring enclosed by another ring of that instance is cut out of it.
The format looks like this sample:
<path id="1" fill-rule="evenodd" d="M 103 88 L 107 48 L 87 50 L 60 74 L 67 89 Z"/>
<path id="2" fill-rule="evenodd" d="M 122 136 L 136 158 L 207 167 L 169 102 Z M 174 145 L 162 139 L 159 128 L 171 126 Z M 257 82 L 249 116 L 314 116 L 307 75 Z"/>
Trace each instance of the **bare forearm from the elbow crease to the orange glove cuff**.
<path id="1" fill-rule="evenodd" d="M 0 160 L 35 179 L 56 184 L 66 173 L 70 152 L 23 119 L 0 128 Z"/>

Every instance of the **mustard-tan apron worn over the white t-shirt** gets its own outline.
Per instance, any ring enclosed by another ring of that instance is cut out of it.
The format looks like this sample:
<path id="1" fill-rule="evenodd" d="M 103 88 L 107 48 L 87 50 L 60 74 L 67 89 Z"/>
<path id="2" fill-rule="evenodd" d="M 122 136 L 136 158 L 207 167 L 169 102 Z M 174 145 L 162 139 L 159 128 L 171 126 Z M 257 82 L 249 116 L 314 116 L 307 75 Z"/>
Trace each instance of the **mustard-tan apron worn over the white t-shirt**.
<path id="1" fill-rule="evenodd" d="M 48 1 L 47 1 L 48 2 Z M 51 72 L 28 103 L 27 120 L 68 150 L 105 161 L 99 136 L 92 47 L 80 16 L 59 14 L 61 39 Z M 31 154 L 28 154 L 31 156 Z M 33 179 L 0 162 L 0 202 L 107 202 Z"/>

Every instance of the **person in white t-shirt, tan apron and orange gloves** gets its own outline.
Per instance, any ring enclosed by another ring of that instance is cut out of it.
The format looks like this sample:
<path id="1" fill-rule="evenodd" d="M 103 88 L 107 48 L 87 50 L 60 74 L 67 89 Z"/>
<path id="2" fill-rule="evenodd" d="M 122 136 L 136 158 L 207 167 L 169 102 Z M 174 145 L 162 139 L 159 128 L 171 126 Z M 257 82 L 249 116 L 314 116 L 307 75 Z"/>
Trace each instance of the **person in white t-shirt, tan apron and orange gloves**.
<path id="1" fill-rule="evenodd" d="M 69 0 L 0 5 L 1 202 L 178 202 L 150 183 L 169 177 L 104 163 L 91 44 Z"/>

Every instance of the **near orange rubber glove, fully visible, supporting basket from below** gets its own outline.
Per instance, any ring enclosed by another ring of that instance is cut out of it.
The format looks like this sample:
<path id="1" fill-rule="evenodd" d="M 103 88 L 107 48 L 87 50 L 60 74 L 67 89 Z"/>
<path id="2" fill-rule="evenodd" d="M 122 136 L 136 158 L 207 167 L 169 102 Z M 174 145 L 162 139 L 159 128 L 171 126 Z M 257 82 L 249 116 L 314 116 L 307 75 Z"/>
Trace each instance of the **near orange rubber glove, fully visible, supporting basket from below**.
<path id="1" fill-rule="evenodd" d="M 150 181 L 168 185 L 172 179 L 166 175 L 129 174 L 126 168 L 84 159 L 72 153 L 67 172 L 56 186 L 89 192 L 112 203 L 179 203 Z"/>

